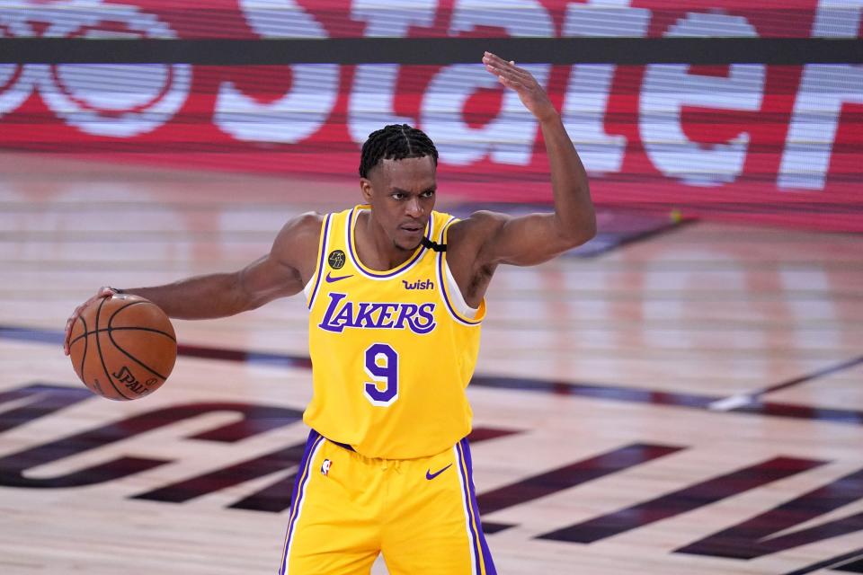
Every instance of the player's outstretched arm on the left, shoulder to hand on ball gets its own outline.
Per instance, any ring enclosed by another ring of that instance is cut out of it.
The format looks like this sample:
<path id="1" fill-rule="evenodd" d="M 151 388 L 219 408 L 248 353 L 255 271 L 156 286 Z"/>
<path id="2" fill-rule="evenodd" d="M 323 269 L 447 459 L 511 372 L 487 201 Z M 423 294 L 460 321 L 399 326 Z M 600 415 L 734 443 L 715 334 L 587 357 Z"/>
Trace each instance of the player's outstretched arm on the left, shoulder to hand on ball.
<path id="1" fill-rule="evenodd" d="M 181 279 L 164 286 L 124 288 L 123 293 L 145 297 L 169 317 L 200 320 L 227 317 L 252 310 L 279 297 L 293 296 L 305 287 L 315 269 L 323 217 L 309 213 L 282 227 L 271 250 L 242 270 Z M 99 292 L 79 305 L 66 324 L 64 351 L 72 325 L 84 308 L 114 288 Z"/>

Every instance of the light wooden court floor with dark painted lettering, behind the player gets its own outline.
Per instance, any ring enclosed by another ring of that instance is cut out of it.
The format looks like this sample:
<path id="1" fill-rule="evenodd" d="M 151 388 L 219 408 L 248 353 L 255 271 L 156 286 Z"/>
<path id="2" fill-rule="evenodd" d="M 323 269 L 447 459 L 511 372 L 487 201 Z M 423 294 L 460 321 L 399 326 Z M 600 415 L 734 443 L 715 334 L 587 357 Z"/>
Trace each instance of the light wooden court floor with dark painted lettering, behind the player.
<path id="1" fill-rule="evenodd" d="M 0 170 L 0 573 L 275 572 L 307 433 L 301 301 L 174 322 L 173 375 L 131 403 L 89 394 L 60 332 L 99 286 L 234 270 L 357 190 Z M 488 308 L 469 395 L 499 572 L 863 572 L 859 236 L 694 222 L 501 269 Z"/>

